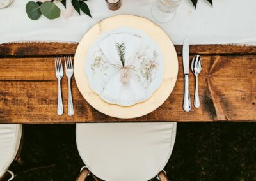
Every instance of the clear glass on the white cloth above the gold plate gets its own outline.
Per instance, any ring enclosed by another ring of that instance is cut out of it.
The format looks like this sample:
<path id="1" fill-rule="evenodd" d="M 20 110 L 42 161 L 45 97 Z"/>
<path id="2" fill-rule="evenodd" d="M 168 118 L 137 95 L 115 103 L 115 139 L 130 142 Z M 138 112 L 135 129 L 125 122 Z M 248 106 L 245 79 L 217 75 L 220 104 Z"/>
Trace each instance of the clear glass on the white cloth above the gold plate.
<path id="1" fill-rule="evenodd" d="M 182 0 L 156 0 L 152 5 L 152 16 L 161 23 L 170 22 Z"/>

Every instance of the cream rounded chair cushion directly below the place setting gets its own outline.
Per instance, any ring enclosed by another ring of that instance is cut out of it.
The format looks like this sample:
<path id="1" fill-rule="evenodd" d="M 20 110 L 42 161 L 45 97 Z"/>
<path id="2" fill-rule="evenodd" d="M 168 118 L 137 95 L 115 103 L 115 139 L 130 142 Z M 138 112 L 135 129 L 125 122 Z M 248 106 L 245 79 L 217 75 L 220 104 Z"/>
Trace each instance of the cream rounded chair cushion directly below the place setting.
<path id="1" fill-rule="evenodd" d="M 106 181 L 143 181 L 163 170 L 171 156 L 176 123 L 76 124 L 84 164 Z"/>

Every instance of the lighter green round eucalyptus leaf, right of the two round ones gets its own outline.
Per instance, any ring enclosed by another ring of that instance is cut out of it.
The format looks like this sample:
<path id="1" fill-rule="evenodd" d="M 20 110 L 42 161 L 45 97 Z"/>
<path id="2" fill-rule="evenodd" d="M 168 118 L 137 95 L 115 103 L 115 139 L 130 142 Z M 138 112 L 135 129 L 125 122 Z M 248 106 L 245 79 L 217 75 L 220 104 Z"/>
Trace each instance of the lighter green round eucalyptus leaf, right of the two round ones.
<path id="1" fill-rule="evenodd" d="M 50 20 L 53 20 L 55 18 L 60 17 L 60 8 L 56 6 L 54 3 L 45 1 L 40 8 L 42 14 L 49 18 Z"/>

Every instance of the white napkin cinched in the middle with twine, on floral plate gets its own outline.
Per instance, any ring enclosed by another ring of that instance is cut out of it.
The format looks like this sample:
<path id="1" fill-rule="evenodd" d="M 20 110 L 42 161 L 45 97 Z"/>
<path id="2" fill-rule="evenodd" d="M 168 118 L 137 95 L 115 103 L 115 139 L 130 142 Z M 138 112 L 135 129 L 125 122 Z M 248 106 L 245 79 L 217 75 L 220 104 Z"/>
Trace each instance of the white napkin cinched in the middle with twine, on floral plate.
<path id="1" fill-rule="evenodd" d="M 98 46 L 109 62 L 109 66 L 122 66 L 116 43 L 119 45 L 124 43 L 125 66 L 132 66 L 134 64 L 134 59 L 140 50 L 142 41 L 143 39 L 140 36 L 134 36 L 134 34 L 114 33 L 101 40 L 98 43 Z M 134 71 L 135 70 L 130 69 L 131 78 L 128 83 L 120 81 L 120 71 L 116 71 L 106 83 L 106 87 L 101 95 L 102 98 L 120 105 L 132 105 L 133 103 L 143 101 L 145 99 L 145 91 L 134 74 Z"/>

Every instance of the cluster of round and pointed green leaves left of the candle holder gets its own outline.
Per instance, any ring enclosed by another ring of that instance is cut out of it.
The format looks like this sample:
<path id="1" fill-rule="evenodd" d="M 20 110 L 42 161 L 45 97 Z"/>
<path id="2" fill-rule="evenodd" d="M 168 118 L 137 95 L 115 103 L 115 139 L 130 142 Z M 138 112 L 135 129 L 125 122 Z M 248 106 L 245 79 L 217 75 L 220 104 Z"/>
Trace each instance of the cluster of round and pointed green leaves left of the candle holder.
<path id="1" fill-rule="evenodd" d="M 29 1 L 26 4 L 26 13 L 31 20 L 38 20 L 38 18 L 41 17 L 41 15 L 44 15 L 45 17 L 49 18 L 50 20 L 60 17 L 60 8 L 55 5 L 55 3 L 60 2 L 63 4 L 63 6 L 66 8 L 66 0 L 51 0 L 51 1 L 45 1 L 44 3 L 41 3 L 40 1 Z M 90 13 L 90 9 L 88 8 L 87 4 L 84 2 L 87 0 L 72 0 L 72 6 L 77 11 L 77 13 L 80 13 L 80 10 L 83 11 L 86 15 L 92 18 L 92 15 Z"/>

